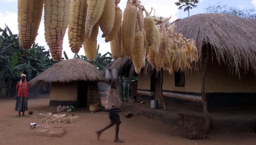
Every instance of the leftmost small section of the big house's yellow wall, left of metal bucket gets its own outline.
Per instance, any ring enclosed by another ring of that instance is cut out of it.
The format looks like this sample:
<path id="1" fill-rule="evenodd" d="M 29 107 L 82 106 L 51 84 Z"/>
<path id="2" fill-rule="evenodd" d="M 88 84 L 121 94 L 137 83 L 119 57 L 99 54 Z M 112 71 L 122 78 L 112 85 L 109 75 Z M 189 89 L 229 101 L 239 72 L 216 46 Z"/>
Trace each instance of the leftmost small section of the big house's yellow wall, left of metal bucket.
<path id="1" fill-rule="evenodd" d="M 150 90 L 150 77 L 150 74 L 145 76 L 143 73 L 140 73 L 138 76 L 138 89 Z"/>

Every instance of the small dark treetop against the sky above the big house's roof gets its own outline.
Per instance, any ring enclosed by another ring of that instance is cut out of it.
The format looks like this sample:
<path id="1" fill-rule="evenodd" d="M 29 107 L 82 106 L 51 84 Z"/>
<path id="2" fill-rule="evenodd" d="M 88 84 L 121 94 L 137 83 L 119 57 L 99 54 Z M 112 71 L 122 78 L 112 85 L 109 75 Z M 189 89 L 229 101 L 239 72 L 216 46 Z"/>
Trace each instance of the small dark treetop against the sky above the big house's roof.
<path id="1" fill-rule="evenodd" d="M 198 2 L 199 2 L 199 0 L 179 0 L 178 2 L 175 2 L 174 4 L 179 7 L 178 9 L 182 9 L 183 7 L 185 7 L 184 12 L 188 11 L 188 17 L 189 17 L 189 9 L 196 8 L 197 5 L 195 5 L 195 4 L 197 4 Z"/>

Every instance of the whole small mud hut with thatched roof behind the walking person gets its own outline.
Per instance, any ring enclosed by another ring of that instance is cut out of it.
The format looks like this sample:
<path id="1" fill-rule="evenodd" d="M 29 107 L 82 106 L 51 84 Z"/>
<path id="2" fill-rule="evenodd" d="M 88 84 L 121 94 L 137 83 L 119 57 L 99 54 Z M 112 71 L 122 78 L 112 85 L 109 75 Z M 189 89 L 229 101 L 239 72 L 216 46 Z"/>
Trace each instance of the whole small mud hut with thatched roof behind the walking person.
<path id="1" fill-rule="evenodd" d="M 60 61 L 29 81 L 30 86 L 51 83 L 50 106 L 72 105 L 86 107 L 101 105 L 98 81 L 104 81 L 102 73 L 82 59 Z"/>

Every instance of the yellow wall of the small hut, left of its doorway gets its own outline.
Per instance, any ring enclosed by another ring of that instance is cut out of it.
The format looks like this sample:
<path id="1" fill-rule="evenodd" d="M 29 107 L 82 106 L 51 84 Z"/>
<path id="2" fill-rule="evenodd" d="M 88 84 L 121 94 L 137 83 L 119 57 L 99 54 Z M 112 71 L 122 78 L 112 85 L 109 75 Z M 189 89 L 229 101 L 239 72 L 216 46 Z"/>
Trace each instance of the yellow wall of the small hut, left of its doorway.
<path id="1" fill-rule="evenodd" d="M 77 101 L 78 83 L 52 83 L 50 100 Z"/>

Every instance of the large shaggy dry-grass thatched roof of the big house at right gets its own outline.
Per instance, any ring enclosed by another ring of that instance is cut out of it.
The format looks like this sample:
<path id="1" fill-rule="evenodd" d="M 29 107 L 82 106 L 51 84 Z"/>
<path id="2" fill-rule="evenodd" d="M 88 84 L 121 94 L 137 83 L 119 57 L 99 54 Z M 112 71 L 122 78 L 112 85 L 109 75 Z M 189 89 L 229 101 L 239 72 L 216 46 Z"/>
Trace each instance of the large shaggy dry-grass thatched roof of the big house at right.
<path id="1" fill-rule="evenodd" d="M 195 40 L 200 62 L 202 48 L 210 48 L 236 75 L 241 68 L 256 75 L 256 20 L 209 13 L 176 20 L 175 25 L 177 33 Z"/>

